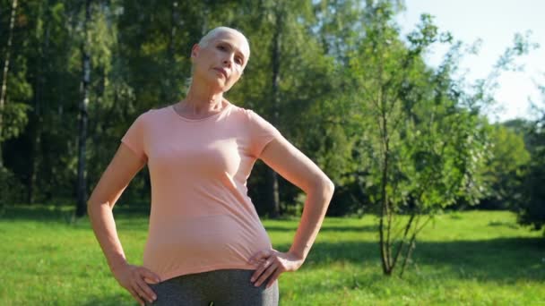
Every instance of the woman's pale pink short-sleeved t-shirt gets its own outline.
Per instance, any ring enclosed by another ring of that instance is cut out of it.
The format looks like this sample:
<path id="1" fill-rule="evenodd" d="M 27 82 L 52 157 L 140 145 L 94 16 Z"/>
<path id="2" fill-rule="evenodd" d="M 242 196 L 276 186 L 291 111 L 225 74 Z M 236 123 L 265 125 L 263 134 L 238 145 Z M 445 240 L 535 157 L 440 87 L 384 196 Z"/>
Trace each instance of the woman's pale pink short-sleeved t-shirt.
<path id="1" fill-rule="evenodd" d="M 161 280 L 222 268 L 271 250 L 247 177 L 265 145 L 281 137 L 253 111 L 229 104 L 192 120 L 172 106 L 140 115 L 121 141 L 148 163 L 151 216 L 143 266 Z"/>

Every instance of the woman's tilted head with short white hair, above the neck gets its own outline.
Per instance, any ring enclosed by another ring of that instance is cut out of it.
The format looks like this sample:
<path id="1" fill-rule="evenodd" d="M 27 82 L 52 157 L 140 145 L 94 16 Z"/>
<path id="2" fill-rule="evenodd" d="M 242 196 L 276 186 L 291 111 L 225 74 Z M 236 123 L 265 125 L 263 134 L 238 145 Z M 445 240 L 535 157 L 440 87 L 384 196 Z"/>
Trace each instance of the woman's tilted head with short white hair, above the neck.
<path id="1" fill-rule="evenodd" d="M 250 47 L 247 39 L 234 31 L 221 31 L 205 46 L 195 45 L 191 52 L 194 82 L 228 91 L 246 67 Z"/>

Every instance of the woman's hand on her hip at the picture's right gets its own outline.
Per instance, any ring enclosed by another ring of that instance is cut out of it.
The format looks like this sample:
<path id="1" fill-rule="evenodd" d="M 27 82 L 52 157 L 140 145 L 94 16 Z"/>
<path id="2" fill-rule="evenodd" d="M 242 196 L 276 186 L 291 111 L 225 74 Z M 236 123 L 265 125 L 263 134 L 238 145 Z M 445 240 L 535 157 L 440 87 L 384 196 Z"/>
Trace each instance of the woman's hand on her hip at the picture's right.
<path id="1" fill-rule="evenodd" d="M 269 282 L 266 285 L 266 288 L 268 288 L 274 284 L 281 273 L 295 271 L 301 267 L 305 259 L 290 252 L 282 253 L 280 251 L 270 250 L 258 251 L 248 261 L 250 264 L 257 265 L 255 273 L 250 281 L 258 287 L 269 278 Z"/>

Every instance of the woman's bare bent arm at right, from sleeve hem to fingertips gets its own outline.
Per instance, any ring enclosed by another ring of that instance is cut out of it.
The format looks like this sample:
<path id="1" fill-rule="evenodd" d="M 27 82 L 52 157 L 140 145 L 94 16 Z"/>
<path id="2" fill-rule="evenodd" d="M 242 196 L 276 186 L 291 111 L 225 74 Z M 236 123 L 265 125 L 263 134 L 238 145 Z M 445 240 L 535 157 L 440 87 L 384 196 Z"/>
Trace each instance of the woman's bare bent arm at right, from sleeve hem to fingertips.
<path id="1" fill-rule="evenodd" d="M 333 196 L 333 183 L 316 164 L 283 137 L 272 140 L 265 147 L 261 159 L 282 177 L 307 193 L 303 214 L 290 251 L 260 251 L 250 259 L 259 264 L 251 281 L 261 285 L 269 276 L 272 285 L 282 272 L 298 269 L 324 221 L 325 212 Z"/>

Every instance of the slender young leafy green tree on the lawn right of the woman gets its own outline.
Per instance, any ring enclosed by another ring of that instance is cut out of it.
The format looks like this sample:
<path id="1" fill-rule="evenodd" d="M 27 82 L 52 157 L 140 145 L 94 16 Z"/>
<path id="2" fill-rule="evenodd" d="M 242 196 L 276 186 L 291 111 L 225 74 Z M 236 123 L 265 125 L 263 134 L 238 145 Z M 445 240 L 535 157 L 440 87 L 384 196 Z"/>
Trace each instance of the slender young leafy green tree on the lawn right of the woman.
<path id="1" fill-rule="evenodd" d="M 474 199 L 475 175 L 486 143 L 478 113 L 459 105 L 454 45 L 437 71 L 422 55 L 439 35 L 431 16 L 422 15 L 418 29 L 399 38 L 393 23 L 395 5 L 369 1 L 365 36 L 350 55 L 350 98 L 359 122 L 354 158 L 359 180 L 378 214 L 379 250 L 385 275 L 401 272 L 416 237 L 433 215 L 459 197 Z"/>

